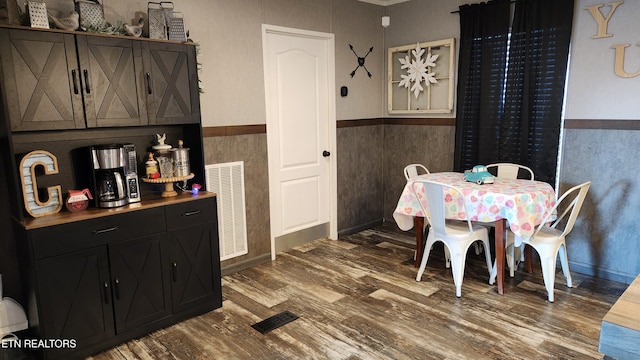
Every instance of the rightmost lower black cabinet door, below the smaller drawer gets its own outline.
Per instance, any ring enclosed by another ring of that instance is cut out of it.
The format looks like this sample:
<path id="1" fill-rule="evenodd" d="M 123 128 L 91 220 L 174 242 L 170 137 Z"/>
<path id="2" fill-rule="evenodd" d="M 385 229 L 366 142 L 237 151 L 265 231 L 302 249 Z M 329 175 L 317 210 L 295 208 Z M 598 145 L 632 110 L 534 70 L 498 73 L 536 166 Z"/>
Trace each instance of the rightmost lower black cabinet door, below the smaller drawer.
<path id="1" fill-rule="evenodd" d="M 175 313 L 206 302 L 222 306 L 217 228 L 205 223 L 169 232 Z"/>

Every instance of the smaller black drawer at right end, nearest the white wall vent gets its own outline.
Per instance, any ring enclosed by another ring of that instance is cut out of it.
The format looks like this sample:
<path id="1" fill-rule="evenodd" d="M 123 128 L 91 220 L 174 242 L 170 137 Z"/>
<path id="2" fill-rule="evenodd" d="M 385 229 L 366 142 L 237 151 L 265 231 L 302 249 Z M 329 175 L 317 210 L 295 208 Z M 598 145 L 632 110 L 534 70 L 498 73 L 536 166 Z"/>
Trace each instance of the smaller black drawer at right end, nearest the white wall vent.
<path id="1" fill-rule="evenodd" d="M 174 204 L 165 209 L 168 231 L 218 221 L 215 197 Z"/>

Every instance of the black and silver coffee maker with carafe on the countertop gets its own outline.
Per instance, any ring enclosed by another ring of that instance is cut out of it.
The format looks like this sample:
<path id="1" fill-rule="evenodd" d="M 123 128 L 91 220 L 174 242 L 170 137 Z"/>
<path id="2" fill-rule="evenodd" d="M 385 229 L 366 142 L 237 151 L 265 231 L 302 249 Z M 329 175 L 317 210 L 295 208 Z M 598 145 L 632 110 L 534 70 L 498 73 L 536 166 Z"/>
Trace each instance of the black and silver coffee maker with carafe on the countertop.
<path id="1" fill-rule="evenodd" d="M 96 207 L 113 208 L 129 203 L 126 186 L 126 157 L 122 145 L 89 147 L 93 170 L 91 183 Z"/>

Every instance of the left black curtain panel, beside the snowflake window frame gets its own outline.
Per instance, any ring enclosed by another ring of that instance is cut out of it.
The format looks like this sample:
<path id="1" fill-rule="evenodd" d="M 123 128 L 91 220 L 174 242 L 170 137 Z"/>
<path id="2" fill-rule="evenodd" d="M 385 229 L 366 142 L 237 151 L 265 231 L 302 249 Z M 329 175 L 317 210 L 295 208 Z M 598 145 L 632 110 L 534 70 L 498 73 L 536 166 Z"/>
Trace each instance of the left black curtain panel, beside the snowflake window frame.
<path id="1" fill-rule="evenodd" d="M 503 109 L 509 0 L 460 6 L 454 169 L 497 158 Z"/>

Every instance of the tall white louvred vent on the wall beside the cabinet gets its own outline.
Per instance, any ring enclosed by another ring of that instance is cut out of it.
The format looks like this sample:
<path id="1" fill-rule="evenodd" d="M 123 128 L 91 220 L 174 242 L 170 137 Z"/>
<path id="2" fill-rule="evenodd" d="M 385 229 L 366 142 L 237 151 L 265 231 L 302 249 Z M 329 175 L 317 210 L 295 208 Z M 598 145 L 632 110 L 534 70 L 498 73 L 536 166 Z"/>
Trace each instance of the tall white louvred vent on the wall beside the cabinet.
<path id="1" fill-rule="evenodd" d="M 247 253 L 244 162 L 205 166 L 207 190 L 217 194 L 220 260 Z"/>

